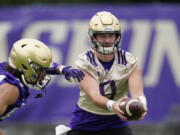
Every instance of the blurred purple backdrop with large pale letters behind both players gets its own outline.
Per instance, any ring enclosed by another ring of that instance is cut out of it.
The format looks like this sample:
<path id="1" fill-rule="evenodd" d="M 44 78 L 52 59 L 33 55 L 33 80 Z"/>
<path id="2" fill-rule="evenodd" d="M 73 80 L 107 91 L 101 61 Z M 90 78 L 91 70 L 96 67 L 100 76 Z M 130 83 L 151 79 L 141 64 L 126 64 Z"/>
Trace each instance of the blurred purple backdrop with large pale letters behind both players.
<path id="1" fill-rule="evenodd" d="M 179 135 L 179 0 L 0 0 L 0 61 L 16 40 L 36 38 L 51 48 L 54 61 L 73 65 L 89 48 L 89 19 L 103 10 L 120 19 L 121 48 L 136 55 L 143 70 L 149 112 L 130 122 L 134 135 Z M 0 123 L 5 135 L 54 135 L 56 125 L 68 125 L 77 85 L 57 76 L 46 89 L 39 99 L 31 91 L 27 105 Z"/>

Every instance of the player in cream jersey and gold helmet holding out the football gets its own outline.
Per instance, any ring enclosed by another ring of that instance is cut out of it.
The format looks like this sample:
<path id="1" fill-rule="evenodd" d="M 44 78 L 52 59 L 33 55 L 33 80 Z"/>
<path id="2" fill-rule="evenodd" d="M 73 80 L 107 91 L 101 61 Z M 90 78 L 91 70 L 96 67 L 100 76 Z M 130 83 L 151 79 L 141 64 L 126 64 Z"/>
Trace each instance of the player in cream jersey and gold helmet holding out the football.
<path id="1" fill-rule="evenodd" d="M 119 104 L 129 93 L 144 105 L 140 119 L 147 113 L 137 58 L 119 48 L 120 22 L 110 12 L 91 18 L 89 37 L 92 49 L 75 61 L 85 77 L 79 83 L 80 96 L 67 135 L 132 135 Z"/>

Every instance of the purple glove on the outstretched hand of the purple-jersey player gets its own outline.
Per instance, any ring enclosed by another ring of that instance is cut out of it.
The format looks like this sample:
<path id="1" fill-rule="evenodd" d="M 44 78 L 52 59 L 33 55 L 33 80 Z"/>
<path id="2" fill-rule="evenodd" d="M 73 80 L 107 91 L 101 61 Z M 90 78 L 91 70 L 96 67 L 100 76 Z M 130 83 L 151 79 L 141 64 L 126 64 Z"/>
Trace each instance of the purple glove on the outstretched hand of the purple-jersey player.
<path id="1" fill-rule="evenodd" d="M 83 77 L 85 76 L 83 71 L 80 69 L 72 68 L 71 66 L 65 66 L 61 70 L 62 74 L 65 76 L 65 79 L 68 81 L 78 80 L 80 82 L 83 80 Z"/>

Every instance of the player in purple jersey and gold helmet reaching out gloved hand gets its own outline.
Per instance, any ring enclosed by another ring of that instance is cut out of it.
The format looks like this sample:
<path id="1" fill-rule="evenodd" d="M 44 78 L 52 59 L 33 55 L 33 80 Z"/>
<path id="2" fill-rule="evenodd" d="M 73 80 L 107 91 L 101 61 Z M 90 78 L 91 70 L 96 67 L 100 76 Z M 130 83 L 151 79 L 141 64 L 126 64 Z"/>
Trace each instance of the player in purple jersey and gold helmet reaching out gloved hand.
<path id="1" fill-rule="evenodd" d="M 0 63 L 0 121 L 26 103 L 30 96 L 28 88 L 43 94 L 51 80 L 50 74 L 62 74 L 69 81 L 80 81 L 84 76 L 79 69 L 52 64 L 50 49 L 39 40 L 15 42 L 8 62 Z"/>

